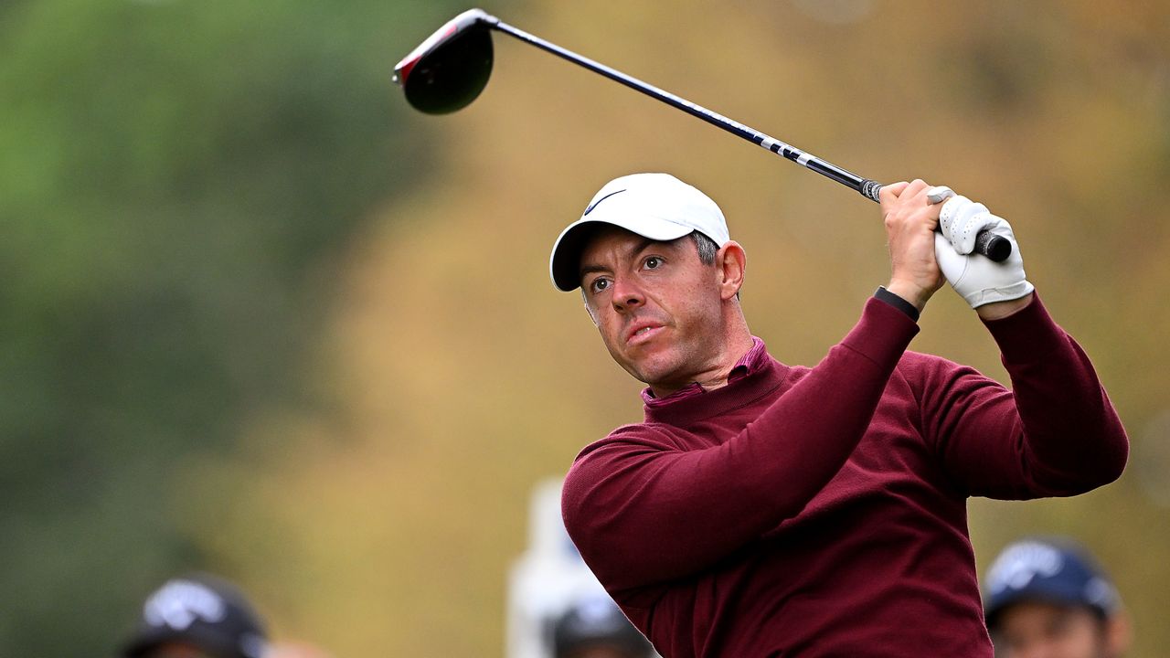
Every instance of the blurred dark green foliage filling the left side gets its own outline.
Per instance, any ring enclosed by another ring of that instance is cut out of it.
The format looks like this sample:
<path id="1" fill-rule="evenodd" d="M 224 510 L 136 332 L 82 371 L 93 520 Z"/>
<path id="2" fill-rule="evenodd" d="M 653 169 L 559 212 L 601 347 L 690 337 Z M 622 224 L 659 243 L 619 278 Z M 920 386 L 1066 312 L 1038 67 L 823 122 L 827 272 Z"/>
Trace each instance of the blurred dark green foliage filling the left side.
<path id="1" fill-rule="evenodd" d="M 0 654 L 105 653 L 199 566 L 168 479 L 311 402 L 331 254 L 428 162 L 391 67 L 455 7 L 0 6 Z"/>

